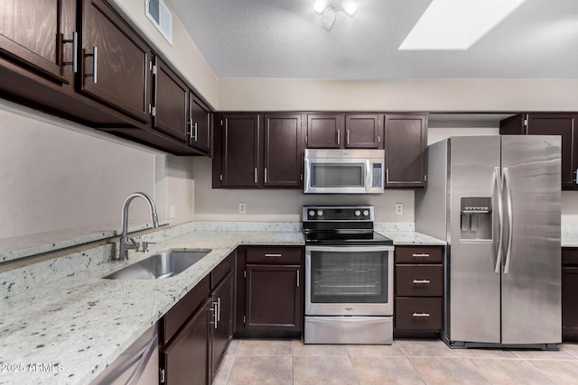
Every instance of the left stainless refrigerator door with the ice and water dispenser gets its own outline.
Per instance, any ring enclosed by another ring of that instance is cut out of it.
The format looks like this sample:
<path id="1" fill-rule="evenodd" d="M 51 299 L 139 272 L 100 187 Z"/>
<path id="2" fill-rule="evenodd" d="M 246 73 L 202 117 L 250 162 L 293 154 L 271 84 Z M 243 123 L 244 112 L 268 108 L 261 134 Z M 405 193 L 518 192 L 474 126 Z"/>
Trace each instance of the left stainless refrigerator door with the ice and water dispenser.
<path id="1" fill-rule="evenodd" d="M 499 243 L 496 180 L 499 161 L 498 135 L 450 140 L 450 296 L 446 330 L 452 341 L 499 343 L 500 279 L 499 270 L 495 271 Z M 473 215 L 463 213 L 462 197 L 491 198 L 489 235 L 484 233 L 481 239 L 476 239 L 474 231 L 480 223 L 471 222 Z"/>

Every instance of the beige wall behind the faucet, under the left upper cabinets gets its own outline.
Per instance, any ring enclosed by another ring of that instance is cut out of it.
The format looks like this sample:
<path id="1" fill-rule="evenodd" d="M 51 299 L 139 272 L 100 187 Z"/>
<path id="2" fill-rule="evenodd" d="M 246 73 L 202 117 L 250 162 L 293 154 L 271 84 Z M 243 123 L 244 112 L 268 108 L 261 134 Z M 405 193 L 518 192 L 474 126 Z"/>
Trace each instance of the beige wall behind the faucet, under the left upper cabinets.
<path id="1" fill-rule="evenodd" d="M 0 100 L 0 238 L 89 227 L 120 230 L 126 197 L 144 191 L 160 219 L 193 213 L 192 161 Z M 142 199 L 133 225 L 148 224 Z M 99 227 L 100 226 L 100 227 Z"/>

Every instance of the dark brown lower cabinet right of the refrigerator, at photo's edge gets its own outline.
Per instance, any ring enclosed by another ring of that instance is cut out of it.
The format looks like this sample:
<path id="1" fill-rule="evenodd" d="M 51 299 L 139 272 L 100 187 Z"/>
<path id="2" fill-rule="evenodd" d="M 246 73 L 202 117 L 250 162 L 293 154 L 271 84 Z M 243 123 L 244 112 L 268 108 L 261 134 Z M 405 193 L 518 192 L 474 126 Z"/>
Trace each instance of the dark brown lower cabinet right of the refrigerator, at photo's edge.
<path id="1" fill-rule="evenodd" d="M 562 248 L 562 341 L 578 341 L 578 248 Z"/>

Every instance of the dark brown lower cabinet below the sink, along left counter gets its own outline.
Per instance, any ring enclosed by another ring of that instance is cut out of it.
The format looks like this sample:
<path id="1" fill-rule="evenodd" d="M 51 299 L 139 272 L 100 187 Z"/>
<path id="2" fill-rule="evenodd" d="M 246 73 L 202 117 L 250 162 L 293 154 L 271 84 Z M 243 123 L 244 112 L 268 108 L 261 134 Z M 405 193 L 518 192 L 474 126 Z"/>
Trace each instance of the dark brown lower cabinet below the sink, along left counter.
<path id="1" fill-rule="evenodd" d="M 160 383 L 210 384 L 233 336 L 235 252 L 160 321 Z"/>

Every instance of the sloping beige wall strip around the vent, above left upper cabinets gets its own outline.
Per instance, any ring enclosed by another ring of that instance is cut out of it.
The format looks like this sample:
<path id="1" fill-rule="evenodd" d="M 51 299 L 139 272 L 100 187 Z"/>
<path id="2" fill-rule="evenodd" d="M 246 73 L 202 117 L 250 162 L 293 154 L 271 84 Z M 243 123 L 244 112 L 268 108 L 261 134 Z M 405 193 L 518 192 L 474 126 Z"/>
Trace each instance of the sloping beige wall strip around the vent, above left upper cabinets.
<path id="1" fill-rule="evenodd" d="M 185 32 L 176 14 L 172 15 L 171 45 L 144 14 L 144 0 L 108 0 L 108 3 L 125 16 L 137 32 L 141 32 L 154 50 L 170 61 L 172 69 L 187 79 L 200 96 L 213 108 L 217 108 L 217 76 L 191 36 Z"/>

